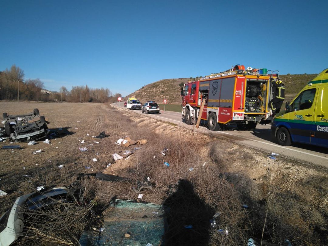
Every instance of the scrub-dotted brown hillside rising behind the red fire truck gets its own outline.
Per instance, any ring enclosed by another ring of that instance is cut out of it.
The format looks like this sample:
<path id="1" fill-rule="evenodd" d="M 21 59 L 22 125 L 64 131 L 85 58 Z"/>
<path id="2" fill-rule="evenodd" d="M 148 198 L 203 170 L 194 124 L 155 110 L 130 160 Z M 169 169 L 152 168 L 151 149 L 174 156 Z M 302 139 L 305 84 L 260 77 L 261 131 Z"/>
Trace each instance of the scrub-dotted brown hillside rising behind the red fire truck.
<path id="1" fill-rule="evenodd" d="M 306 85 L 307 82 L 315 78 L 317 74 L 288 74 L 280 75 L 280 79 L 284 82 L 286 87 L 286 99 L 291 100 L 295 95 Z M 136 97 L 141 102 L 146 102 L 149 100 L 157 101 L 161 103 L 164 98 L 168 99 L 170 104 L 180 104 L 180 85 L 181 83 L 186 83 L 190 78 L 180 78 L 180 79 L 162 79 L 154 83 L 148 84 L 140 88 L 139 90 L 126 96 Z M 195 80 L 192 79 L 192 80 Z"/>

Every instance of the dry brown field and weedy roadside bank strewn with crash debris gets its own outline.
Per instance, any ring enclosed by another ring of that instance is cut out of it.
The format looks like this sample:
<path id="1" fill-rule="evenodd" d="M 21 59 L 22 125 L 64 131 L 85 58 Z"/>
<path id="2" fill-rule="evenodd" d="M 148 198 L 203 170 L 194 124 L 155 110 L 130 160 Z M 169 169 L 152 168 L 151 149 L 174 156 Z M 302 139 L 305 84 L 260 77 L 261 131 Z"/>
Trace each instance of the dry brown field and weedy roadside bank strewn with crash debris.
<path id="1" fill-rule="evenodd" d="M 328 244 L 325 169 L 289 163 L 279 156 L 273 160 L 267 157 L 270 153 L 200 133 L 194 135 L 187 128 L 107 104 L 0 102 L 0 108 L 8 114 L 23 114 L 38 108 L 51 122 L 50 129 L 67 128 L 70 132 L 51 139 L 51 144 L 38 141 L 34 146 L 20 143 L 23 149 L 0 149 L 0 189 L 8 193 L 0 197 L 1 213 L 12 206 L 16 197 L 37 186 L 68 185 L 76 180 L 78 173 L 103 172 L 134 181 L 150 177 L 154 189 L 143 190 L 142 201 L 155 203 L 167 202 L 171 185 L 184 179 L 192 182 L 197 197 L 211 207 L 210 217 L 214 212 L 220 213 L 216 229 L 229 231 L 222 236 L 208 229 L 208 239 L 198 238 L 207 244 L 245 245 L 249 237 L 258 245 L 261 238 L 263 245 L 283 245 L 285 239 L 293 245 Z M 110 136 L 92 137 L 102 131 Z M 131 158 L 114 163 L 113 153 L 136 147 L 115 144 L 125 135 L 148 142 L 135 150 Z M 10 145 L 9 141 L 0 142 L 0 148 L 4 145 Z M 87 147 L 89 151 L 81 152 L 79 147 Z M 164 157 L 160 151 L 165 147 L 170 154 Z M 32 154 L 38 149 L 42 152 Z M 164 161 L 170 167 L 165 167 Z M 112 165 L 106 168 L 109 163 Z M 59 165 L 64 168 L 58 168 Z M 138 200 L 138 194 L 131 191 L 133 184 L 115 186 L 115 189 L 103 183 L 95 187 L 100 200 L 109 201 L 114 196 Z"/>

